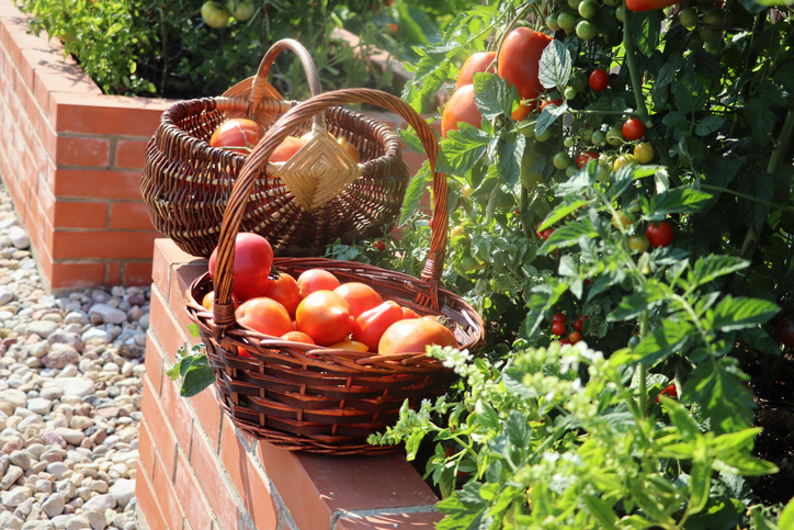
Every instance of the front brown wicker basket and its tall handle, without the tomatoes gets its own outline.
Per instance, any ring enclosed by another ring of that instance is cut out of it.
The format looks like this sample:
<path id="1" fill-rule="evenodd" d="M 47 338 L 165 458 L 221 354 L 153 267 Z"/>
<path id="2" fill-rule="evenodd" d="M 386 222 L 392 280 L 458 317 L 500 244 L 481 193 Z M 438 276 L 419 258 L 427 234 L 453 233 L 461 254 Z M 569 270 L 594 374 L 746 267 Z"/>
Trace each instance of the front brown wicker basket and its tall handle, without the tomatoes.
<path id="1" fill-rule="evenodd" d="M 273 148 L 313 115 L 348 102 L 372 103 L 402 115 L 418 132 L 434 167 L 438 144 L 430 126 L 405 102 L 370 89 L 340 90 L 300 103 L 268 132 L 243 167 L 220 229 L 215 284 L 209 275 L 186 292 L 186 309 L 207 347 L 222 404 L 234 424 L 251 436 L 290 450 L 333 454 L 373 454 L 394 450 L 374 447 L 366 437 L 397 418 L 406 398 L 417 407 L 439 395 L 453 376 L 450 369 L 424 352 L 378 356 L 290 342 L 245 329 L 231 303 L 235 237 L 260 167 Z M 433 232 L 430 255 L 416 279 L 368 264 L 324 258 L 276 258 L 274 267 L 291 274 L 311 268 L 334 273 L 342 282 L 362 282 L 385 300 L 422 315 L 443 315 L 453 323 L 461 349 L 474 351 L 484 339 L 483 320 L 460 296 L 440 289 L 449 213 L 447 184 L 433 176 Z M 213 312 L 200 301 L 215 290 Z M 238 348 L 252 357 L 241 357 Z"/>

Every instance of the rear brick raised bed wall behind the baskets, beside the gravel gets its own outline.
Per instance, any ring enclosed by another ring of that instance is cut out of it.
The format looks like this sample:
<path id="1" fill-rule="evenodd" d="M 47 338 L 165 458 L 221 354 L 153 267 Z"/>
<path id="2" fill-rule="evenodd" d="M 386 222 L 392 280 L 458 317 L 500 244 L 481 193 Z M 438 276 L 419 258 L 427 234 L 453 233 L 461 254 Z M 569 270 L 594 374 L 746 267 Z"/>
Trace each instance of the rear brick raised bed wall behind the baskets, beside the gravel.
<path id="1" fill-rule="evenodd" d="M 0 177 L 42 278 L 55 291 L 149 284 L 161 235 L 140 196 L 140 172 L 172 101 L 103 94 L 59 41 L 29 34 L 27 20 L 13 0 L 0 0 Z M 370 114 L 401 126 L 397 116 Z M 423 158 L 406 153 L 412 171 Z"/>

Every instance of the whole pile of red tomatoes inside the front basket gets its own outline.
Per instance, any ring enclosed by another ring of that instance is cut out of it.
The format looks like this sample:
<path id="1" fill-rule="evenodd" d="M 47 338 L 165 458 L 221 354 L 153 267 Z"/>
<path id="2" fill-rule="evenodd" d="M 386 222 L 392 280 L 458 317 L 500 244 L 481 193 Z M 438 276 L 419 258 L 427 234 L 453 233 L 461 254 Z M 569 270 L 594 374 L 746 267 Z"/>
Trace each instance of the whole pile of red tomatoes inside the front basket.
<path id="1" fill-rule="evenodd" d="M 384 301 L 365 283 L 345 282 L 325 269 L 294 278 L 271 277 L 273 250 L 257 234 L 236 238 L 232 298 L 243 327 L 274 338 L 378 354 L 424 353 L 427 346 L 457 347 L 454 334 L 433 316 Z M 209 277 L 217 273 L 217 249 L 209 257 Z M 214 292 L 202 305 L 212 311 Z M 241 356 L 249 356 L 240 350 Z"/>

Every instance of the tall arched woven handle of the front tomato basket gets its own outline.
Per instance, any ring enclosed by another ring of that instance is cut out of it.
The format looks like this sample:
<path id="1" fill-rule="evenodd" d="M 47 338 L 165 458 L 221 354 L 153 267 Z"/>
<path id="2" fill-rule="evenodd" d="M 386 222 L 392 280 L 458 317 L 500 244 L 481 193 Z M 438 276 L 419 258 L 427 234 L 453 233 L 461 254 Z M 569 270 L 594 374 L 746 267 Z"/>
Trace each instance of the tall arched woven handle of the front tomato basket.
<path id="1" fill-rule="evenodd" d="M 435 160 L 439 153 L 439 143 L 433 129 L 428 122 L 420 116 L 408 103 L 389 93 L 365 88 L 336 90 L 316 95 L 299 103 L 281 116 L 273 126 L 268 129 L 264 138 L 257 144 L 231 190 L 231 196 L 224 212 L 224 219 L 218 236 L 217 261 L 215 263 L 215 305 L 213 316 L 215 319 L 216 339 L 219 339 L 226 328 L 235 324 L 235 306 L 231 302 L 231 282 L 235 261 L 235 238 L 240 229 L 246 203 L 251 193 L 259 168 L 264 167 L 268 158 L 279 144 L 290 133 L 299 127 L 303 123 L 322 113 L 331 106 L 345 103 L 368 103 L 395 112 L 402 116 L 411 125 L 422 142 L 424 151 L 430 160 L 430 169 L 433 171 L 433 219 L 430 238 L 430 253 L 424 263 L 421 279 L 429 284 L 429 292 L 417 296 L 417 303 L 439 308 L 439 284 L 441 273 L 444 269 L 444 257 L 446 253 L 446 229 L 449 227 L 450 214 L 446 200 L 449 187 L 446 176 L 435 171 Z"/>

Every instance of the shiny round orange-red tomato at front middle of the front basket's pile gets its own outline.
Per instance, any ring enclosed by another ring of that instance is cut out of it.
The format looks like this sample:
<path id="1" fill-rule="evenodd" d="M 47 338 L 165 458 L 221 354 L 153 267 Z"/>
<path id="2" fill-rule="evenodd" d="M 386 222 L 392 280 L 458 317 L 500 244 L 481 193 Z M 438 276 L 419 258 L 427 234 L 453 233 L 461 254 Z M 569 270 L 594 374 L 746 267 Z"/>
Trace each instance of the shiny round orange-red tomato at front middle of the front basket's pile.
<path id="1" fill-rule="evenodd" d="M 315 291 L 298 304 L 295 325 L 319 346 L 344 340 L 353 330 L 350 304 L 333 291 Z"/>

